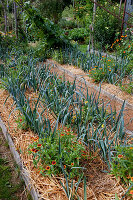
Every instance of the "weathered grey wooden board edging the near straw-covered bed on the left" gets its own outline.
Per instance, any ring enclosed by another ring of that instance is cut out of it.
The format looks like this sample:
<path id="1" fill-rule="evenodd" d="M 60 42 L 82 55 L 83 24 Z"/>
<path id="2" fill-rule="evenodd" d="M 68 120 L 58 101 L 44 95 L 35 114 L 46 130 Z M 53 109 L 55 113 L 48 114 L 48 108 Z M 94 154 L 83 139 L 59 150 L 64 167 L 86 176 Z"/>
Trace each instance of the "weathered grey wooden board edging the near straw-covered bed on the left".
<path id="1" fill-rule="evenodd" d="M 20 168 L 21 177 L 23 178 L 25 185 L 28 188 L 28 191 L 30 192 L 33 200 L 39 200 L 39 194 L 35 190 L 34 186 L 30 183 L 29 173 L 23 167 L 23 163 L 19 156 L 19 153 L 16 151 L 15 145 L 12 141 L 12 138 L 11 138 L 10 134 L 7 132 L 6 126 L 5 126 L 4 122 L 2 121 L 1 117 L 0 117 L 0 127 L 2 129 L 2 133 L 4 134 L 5 139 L 8 142 L 8 145 L 9 145 L 10 151 L 14 157 L 14 160 L 16 161 L 17 165 Z"/>

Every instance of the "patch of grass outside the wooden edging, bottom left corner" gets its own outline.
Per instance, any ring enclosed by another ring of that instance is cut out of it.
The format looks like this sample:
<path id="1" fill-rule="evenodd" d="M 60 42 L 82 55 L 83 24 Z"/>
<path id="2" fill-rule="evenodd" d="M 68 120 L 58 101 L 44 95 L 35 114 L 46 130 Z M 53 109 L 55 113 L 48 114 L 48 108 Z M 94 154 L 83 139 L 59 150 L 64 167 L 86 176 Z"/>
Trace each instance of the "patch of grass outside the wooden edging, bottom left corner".
<path id="1" fill-rule="evenodd" d="M 4 148 L 2 151 L 6 153 L 8 150 L 8 143 L 3 143 L 3 139 L 0 138 L 0 146 Z M 9 153 L 8 153 L 9 155 Z M 20 179 L 20 168 L 13 161 L 13 167 L 10 164 L 11 158 L 8 161 L 8 156 L 6 159 L 0 157 L 0 199 L 1 200 L 20 200 L 22 192 L 24 190 L 24 181 Z M 15 171 L 15 174 L 14 174 Z M 26 197 L 25 197 L 26 196 Z M 26 195 L 23 195 L 24 199 L 32 200 L 32 197 L 28 191 Z M 22 197 L 22 198 L 23 198 Z"/>

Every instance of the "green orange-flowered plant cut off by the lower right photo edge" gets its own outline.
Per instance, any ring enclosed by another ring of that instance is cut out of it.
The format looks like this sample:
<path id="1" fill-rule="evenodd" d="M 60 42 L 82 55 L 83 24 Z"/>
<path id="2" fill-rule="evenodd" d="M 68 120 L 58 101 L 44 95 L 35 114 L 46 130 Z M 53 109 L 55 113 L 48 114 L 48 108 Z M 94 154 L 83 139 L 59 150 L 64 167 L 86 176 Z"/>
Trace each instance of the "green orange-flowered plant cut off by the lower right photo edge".
<path id="1" fill-rule="evenodd" d="M 111 173 L 122 181 L 133 184 L 133 147 L 117 146 L 116 154 L 112 158 Z"/>

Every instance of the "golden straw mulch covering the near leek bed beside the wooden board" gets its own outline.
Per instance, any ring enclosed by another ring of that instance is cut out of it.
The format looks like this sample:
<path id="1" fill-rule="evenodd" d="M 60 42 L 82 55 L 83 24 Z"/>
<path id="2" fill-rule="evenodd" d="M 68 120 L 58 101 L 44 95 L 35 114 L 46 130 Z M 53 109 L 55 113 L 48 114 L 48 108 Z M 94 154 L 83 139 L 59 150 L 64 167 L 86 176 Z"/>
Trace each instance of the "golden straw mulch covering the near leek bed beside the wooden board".
<path id="1" fill-rule="evenodd" d="M 19 115 L 19 111 L 15 110 L 12 112 L 9 118 L 9 114 L 11 110 L 15 108 L 15 106 L 11 108 L 13 104 L 12 98 L 9 98 L 4 105 L 7 96 L 8 92 L 0 89 L 0 115 L 13 139 L 16 150 L 20 153 L 24 167 L 29 172 L 30 181 L 35 186 L 40 195 L 40 199 L 68 199 L 62 186 L 59 183 L 59 180 L 65 183 L 63 177 L 44 177 L 39 174 L 38 169 L 34 167 L 32 155 L 28 154 L 27 149 L 28 146 L 34 141 L 34 139 L 37 138 L 37 135 L 35 135 L 30 129 L 18 129 L 16 119 Z M 35 94 L 30 94 L 30 96 L 35 97 Z M 50 117 L 50 120 L 54 120 L 53 116 Z M 119 183 L 119 180 L 116 180 L 112 175 L 102 172 L 103 163 L 100 159 L 85 161 L 84 166 L 87 168 L 85 174 L 87 176 L 88 200 L 113 200 L 115 199 L 115 193 L 117 193 L 119 197 L 122 197 L 122 195 L 125 193 L 123 187 Z M 83 193 L 84 187 L 83 184 L 80 184 L 78 194 L 81 196 L 81 200 L 84 199 Z"/>

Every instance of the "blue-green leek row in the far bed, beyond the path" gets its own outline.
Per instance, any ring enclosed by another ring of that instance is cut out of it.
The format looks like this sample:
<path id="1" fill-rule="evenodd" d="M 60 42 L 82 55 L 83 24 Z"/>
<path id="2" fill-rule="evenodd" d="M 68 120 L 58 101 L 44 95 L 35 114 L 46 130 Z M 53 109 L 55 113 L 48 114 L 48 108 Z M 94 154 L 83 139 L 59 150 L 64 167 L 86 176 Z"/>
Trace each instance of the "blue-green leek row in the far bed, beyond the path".
<path id="1" fill-rule="evenodd" d="M 92 70 L 102 69 L 104 72 L 104 80 L 111 84 L 122 83 L 125 77 L 132 77 L 133 71 L 132 60 L 129 57 L 123 55 L 121 57 L 110 57 L 102 56 L 102 53 L 98 51 L 95 53 L 81 52 L 77 46 L 74 47 L 63 47 L 60 49 L 53 50 L 52 57 L 60 62 L 61 64 L 69 64 L 80 67 L 85 72 L 91 72 Z M 104 58 L 103 58 L 104 57 Z M 132 59 L 132 58 L 131 58 Z M 108 60 L 110 62 L 108 62 Z M 110 70 L 108 70 L 110 67 Z"/>

